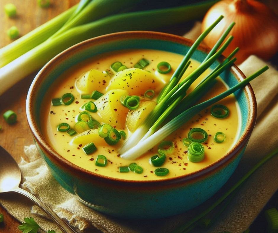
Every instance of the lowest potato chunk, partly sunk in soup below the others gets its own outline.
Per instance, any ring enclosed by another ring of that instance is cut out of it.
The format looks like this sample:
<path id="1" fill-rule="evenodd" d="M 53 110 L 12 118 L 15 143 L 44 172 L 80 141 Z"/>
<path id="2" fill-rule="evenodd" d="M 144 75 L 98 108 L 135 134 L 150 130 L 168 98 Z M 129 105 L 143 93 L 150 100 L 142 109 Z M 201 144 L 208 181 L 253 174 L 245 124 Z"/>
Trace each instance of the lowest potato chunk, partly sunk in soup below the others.
<path id="1" fill-rule="evenodd" d="M 96 147 L 98 145 L 107 145 L 105 140 L 98 135 L 98 129 L 86 130 L 80 133 L 79 135 L 75 136 L 71 140 L 71 144 L 82 144 L 82 146 L 85 146 L 90 142 L 93 142 L 96 145 Z"/>

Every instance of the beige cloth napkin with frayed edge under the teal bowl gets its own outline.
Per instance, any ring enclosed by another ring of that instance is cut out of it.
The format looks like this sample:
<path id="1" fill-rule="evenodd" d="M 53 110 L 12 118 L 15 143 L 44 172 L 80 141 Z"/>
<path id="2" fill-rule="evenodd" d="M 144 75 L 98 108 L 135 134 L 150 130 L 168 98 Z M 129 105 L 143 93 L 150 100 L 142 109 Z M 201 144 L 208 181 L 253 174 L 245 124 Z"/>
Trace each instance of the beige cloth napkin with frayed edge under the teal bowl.
<path id="1" fill-rule="evenodd" d="M 195 35 L 197 34 L 198 30 Z M 248 76 L 264 65 L 265 62 L 255 56 L 250 56 L 240 65 L 240 69 Z M 222 192 L 238 181 L 260 158 L 278 146 L 277 70 L 270 67 L 261 77 L 253 80 L 251 85 L 257 98 L 258 119 L 244 156 L 235 173 L 224 187 L 206 203 L 187 213 L 155 222 L 116 219 L 98 213 L 77 201 L 74 196 L 56 182 L 34 145 L 24 148 L 30 161 L 22 160 L 19 164 L 23 177 L 22 188 L 33 193 L 53 208 L 59 216 L 69 221 L 80 232 L 97 232 L 96 229 L 109 233 L 170 232 L 216 200 Z M 238 233 L 247 229 L 278 189 L 277 167 L 278 156 L 275 156 L 258 169 L 241 187 L 226 211 L 207 232 L 229 231 Z M 54 229 L 59 232 L 57 226 L 47 219 L 37 206 L 33 206 L 31 202 L 18 194 L 1 196 L 0 203 L 12 216 L 20 221 L 23 221 L 25 217 L 33 217 L 43 230 Z M 194 230 L 194 232 L 197 231 Z"/>

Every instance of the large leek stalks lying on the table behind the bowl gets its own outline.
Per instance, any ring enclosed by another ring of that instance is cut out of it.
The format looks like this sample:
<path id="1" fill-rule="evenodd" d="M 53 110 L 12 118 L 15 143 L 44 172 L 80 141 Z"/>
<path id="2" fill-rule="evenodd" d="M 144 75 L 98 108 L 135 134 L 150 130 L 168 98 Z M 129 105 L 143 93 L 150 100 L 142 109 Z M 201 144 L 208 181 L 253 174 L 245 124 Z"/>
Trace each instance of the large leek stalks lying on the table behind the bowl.
<path id="1" fill-rule="evenodd" d="M 205 14 L 216 1 L 104 17 L 135 7 L 139 2 L 140 0 L 81 1 L 81 5 L 54 18 L 51 23 L 28 33 L 20 38 L 19 42 L 15 41 L 10 46 L 2 48 L 0 50 L 0 67 L 3 66 L 0 68 L 0 95 L 22 78 L 43 67 L 58 53 L 76 43 L 107 33 L 153 30 L 193 20 Z M 32 36 L 35 39 L 32 39 Z"/>

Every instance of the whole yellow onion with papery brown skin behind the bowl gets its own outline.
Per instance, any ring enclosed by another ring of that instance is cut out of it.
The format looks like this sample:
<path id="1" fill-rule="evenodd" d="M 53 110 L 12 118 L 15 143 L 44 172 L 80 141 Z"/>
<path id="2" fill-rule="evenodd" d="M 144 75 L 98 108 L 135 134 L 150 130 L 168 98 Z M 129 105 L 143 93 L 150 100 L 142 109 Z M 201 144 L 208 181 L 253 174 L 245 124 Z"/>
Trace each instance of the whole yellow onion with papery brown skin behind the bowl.
<path id="1" fill-rule="evenodd" d="M 229 33 L 235 38 L 224 51 L 225 56 L 239 47 L 236 57 L 237 63 L 241 63 L 251 54 L 268 60 L 278 51 L 278 17 L 265 4 L 255 0 L 219 1 L 206 13 L 202 32 L 220 15 L 224 19 L 204 39 L 209 47 L 212 48 L 227 26 L 235 22 Z"/>

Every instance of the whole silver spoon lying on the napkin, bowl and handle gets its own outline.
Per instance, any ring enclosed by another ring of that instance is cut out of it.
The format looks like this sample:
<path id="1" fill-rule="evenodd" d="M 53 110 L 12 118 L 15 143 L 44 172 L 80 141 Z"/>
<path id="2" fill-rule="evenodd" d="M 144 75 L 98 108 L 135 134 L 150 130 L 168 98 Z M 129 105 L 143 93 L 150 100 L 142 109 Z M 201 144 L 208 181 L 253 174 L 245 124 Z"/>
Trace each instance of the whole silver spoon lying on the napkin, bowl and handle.
<path id="1" fill-rule="evenodd" d="M 59 226 L 63 233 L 77 233 L 66 222 L 64 222 L 51 208 L 42 203 L 31 193 L 19 186 L 21 173 L 14 158 L 0 146 L 0 193 L 17 192 L 32 200 L 37 206 L 41 207 L 51 219 Z"/>

